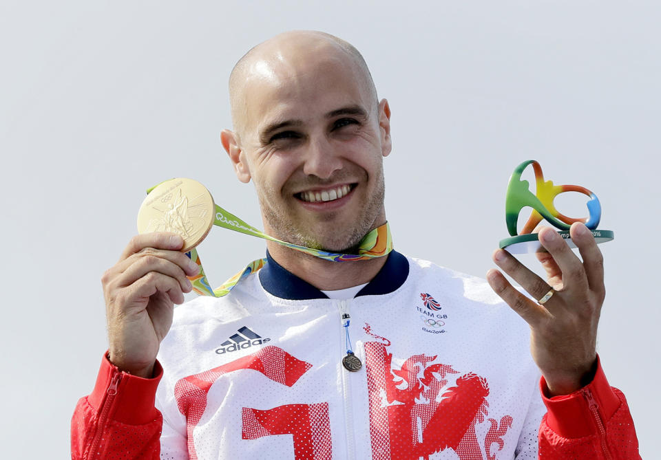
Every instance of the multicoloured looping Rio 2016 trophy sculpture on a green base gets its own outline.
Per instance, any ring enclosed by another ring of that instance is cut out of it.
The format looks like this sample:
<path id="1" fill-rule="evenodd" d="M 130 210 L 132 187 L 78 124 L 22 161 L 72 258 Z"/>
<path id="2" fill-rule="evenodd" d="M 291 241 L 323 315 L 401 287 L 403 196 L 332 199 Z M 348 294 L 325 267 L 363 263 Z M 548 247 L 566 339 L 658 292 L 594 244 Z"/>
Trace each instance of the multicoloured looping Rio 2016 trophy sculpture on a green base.
<path id="1" fill-rule="evenodd" d="M 529 188 L 529 182 L 521 179 L 521 175 L 527 166 L 532 164 L 535 173 L 536 193 L 532 193 Z M 554 206 L 554 199 L 565 192 L 583 193 L 590 197 L 587 201 L 589 217 L 583 219 L 574 219 L 560 214 Z M 526 206 L 532 208 L 532 214 L 521 230 L 517 233 L 516 224 L 518 215 Z M 558 232 L 570 248 L 576 248 L 571 243 L 569 237 L 569 227 L 574 222 L 583 222 L 585 226 L 592 231 L 592 235 L 597 243 L 611 241 L 614 234 L 611 230 L 597 230 L 601 219 L 601 204 L 597 196 L 585 187 L 576 185 L 554 185 L 552 181 L 545 181 L 542 173 L 542 167 L 535 160 L 527 160 L 516 166 L 510 184 L 507 186 L 507 197 L 505 198 L 505 221 L 507 222 L 507 231 L 511 237 L 500 241 L 499 247 L 507 250 L 510 254 L 525 254 L 527 252 L 543 251 L 543 246 L 539 243 L 536 233 L 532 233 L 538 223 L 543 219 L 552 226 L 559 228 Z"/>

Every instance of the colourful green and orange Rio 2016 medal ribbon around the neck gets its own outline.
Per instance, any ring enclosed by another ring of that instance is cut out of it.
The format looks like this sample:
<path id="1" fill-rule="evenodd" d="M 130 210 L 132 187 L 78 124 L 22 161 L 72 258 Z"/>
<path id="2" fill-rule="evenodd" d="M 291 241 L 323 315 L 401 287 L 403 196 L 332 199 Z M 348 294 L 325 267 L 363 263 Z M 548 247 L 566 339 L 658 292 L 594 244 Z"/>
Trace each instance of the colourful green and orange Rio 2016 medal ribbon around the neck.
<path id="1" fill-rule="evenodd" d="M 156 186 L 149 188 L 147 193 L 151 190 L 154 190 Z M 365 235 L 361 240 L 358 246 L 357 254 L 340 254 L 338 252 L 328 252 L 319 249 L 306 248 L 305 246 L 287 243 L 280 239 L 271 237 L 270 235 L 262 232 L 258 228 L 251 226 L 249 223 L 246 223 L 233 215 L 231 212 L 224 210 L 217 204 L 214 204 L 216 207 L 216 217 L 213 221 L 213 225 L 227 228 L 235 232 L 240 232 L 244 234 L 251 235 L 252 237 L 258 237 L 267 239 L 269 241 L 274 241 L 275 243 L 286 246 L 287 248 L 292 248 L 294 250 L 305 252 L 306 254 L 311 254 L 320 259 L 325 259 L 327 261 L 333 262 L 346 262 L 346 261 L 364 261 L 367 259 L 374 259 L 375 257 L 383 257 L 388 255 L 392 251 L 392 235 L 390 234 L 390 226 L 388 223 L 375 228 L 371 232 Z M 186 255 L 189 258 L 198 264 L 200 267 L 200 272 L 197 276 L 189 276 L 189 280 L 193 285 L 193 291 L 201 296 L 213 296 L 213 297 L 222 297 L 229 294 L 231 289 L 237 285 L 242 278 L 248 276 L 253 272 L 257 272 L 260 268 L 264 267 L 266 259 L 257 259 L 249 263 L 243 270 L 229 278 L 225 281 L 220 287 L 212 289 L 207 281 L 207 275 L 204 273 L 204 268 L 202 267 L 202 262 L 200 261 L 200 256 L 195 248 L 186 252 Z"/>

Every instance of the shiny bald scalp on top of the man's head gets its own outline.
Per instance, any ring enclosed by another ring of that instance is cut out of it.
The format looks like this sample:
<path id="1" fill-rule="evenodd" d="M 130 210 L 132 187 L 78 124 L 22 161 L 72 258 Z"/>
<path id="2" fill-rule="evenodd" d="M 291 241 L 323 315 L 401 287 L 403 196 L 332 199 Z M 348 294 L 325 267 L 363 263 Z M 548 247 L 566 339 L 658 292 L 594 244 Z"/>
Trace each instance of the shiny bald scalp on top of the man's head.
<path id="1" fill-rule="evenodd" d="M 252 85 L 277 84 L 300 74 L 310 74 L 324 65 L 346 67 L 372 96 L 376 109 L 377 91 L 370 70 L 350 43 L 324 32 L 284 32 L 247 52 L 229 77 L 229 96 L 234 131 L 241 136 L 248 119 L 246 93 Z"/>

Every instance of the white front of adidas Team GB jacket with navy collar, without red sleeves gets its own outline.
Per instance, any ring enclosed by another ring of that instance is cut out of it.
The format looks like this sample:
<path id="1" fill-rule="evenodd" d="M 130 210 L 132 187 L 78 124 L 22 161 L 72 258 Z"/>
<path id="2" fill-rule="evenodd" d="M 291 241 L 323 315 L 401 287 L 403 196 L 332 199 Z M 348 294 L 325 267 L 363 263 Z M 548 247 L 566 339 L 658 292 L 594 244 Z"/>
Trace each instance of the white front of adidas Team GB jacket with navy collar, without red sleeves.
<path id="1" fill-rule="evenodd" d="M 158 360 L 161 459 L 537 458 L 526 323 L 485 281 L 397 252 L 347 300 L 270 259 L 177 307 Z"/>

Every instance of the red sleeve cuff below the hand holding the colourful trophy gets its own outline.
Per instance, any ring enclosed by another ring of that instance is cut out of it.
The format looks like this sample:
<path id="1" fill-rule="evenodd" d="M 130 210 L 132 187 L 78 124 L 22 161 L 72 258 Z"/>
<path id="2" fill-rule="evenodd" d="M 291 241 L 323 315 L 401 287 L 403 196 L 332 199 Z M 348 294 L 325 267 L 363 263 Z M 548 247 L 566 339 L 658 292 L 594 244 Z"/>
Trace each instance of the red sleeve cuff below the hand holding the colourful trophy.
<path id="1" fill-rule="evenodd" d="M 569 395 L 549 397 L 542 377 L 547 413 L 539 427 L 540 459 L 640 459 L 625 395 L 597 363 L 592 382 Z"/>

